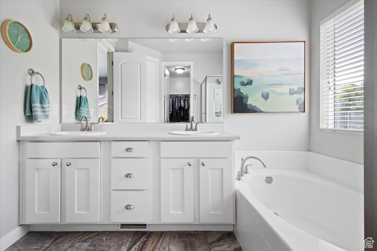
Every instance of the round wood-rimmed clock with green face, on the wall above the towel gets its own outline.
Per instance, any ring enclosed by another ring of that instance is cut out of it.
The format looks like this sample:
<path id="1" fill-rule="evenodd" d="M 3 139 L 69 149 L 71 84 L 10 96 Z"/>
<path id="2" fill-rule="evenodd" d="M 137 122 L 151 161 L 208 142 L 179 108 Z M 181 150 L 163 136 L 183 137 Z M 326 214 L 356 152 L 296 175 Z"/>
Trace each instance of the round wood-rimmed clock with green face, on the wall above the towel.
<path id="1" fill-rule="evenodd" d="M 31 35 L 22 23 L 15 20 L 4 21 L 1 25 L 1 35 L 11 50 L 18 53 L 28 53 L 31 50 Z"/>

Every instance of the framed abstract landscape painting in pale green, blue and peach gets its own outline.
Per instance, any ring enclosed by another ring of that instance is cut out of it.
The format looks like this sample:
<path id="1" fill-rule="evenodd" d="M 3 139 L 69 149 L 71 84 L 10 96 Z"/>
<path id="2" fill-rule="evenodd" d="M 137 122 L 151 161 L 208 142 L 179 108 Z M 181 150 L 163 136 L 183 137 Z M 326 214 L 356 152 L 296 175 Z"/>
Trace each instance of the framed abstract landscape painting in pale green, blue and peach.
<path id="1" fill-rule="evenodd" d="M 305 41 L 233 42 L 232 113 L 305 112 Z"/>

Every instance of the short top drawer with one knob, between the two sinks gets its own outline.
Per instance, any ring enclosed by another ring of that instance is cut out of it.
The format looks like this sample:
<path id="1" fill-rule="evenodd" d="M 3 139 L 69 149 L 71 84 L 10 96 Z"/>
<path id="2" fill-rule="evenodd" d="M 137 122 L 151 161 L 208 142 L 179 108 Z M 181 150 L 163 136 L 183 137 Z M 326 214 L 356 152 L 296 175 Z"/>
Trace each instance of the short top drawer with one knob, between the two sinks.
<path id="1" fill-rule="evenodd" d="M 112 141 L 111 157 L 148 157 L 148 141 Z"/>

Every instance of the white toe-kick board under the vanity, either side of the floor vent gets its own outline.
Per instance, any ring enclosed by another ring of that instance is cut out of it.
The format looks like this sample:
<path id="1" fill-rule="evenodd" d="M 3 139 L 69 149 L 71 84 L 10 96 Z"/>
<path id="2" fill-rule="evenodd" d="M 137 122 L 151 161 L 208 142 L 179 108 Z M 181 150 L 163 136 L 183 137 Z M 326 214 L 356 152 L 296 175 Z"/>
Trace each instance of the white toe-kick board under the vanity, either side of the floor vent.
<path id="1" fill-rule="evenodd" d="M 30 225 L 30 231 L 119 231 L 119 229 L 118 224 L 46 224 Z M 233 231 L 233 224 L 150 224 L 147 231 Z"/>

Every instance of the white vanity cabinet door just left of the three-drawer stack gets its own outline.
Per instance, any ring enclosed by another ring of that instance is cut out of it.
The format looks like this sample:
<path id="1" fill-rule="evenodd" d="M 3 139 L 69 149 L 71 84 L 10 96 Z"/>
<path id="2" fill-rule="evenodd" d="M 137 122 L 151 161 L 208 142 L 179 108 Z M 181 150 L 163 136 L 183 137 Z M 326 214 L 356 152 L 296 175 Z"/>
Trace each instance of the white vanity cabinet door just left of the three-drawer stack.
<path id="1" fill-rule="evenodd" d="M 100 222 L 100 160 L 66 159 L 66 222 Z"/>

